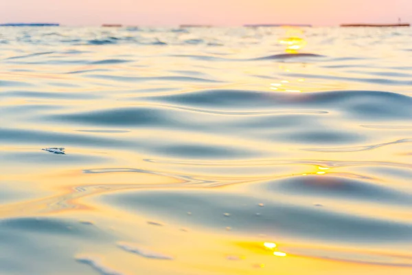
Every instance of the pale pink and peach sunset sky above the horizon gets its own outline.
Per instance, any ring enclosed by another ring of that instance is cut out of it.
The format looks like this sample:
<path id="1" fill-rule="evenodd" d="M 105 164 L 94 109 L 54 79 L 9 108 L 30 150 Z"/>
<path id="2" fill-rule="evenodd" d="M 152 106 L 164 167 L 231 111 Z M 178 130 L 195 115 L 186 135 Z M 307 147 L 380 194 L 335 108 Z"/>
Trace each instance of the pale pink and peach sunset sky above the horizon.
<path id="1" fill-rule="evenodd" d="M 412 23 L 412 0 L 0 0 L 0 23 Z"/>

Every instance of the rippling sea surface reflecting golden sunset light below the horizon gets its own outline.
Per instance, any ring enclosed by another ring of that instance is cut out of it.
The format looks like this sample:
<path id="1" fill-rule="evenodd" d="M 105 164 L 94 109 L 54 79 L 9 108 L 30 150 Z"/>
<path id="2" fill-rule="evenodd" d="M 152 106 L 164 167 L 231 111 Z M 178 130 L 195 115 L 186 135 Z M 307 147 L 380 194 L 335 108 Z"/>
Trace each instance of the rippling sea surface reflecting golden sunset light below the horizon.
<path id="1" fill-rule="evenodd" d="M 0 28 L 0 274 L 411 274 L 411 45 Z"/>

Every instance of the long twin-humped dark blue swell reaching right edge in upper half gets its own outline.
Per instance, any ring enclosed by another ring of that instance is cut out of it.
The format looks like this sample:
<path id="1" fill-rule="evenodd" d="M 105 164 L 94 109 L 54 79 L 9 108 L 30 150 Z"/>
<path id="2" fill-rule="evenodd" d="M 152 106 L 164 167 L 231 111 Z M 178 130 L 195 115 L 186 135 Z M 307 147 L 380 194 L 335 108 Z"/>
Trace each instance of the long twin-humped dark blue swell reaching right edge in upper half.
<path id="1" fill-rule="evenodd" d="M 412 118 L 412 98 L 381 91 L 327 91 L 319 93 L 269 93 L 262 91 L 212 89 L 194 93 L 154 96 L 150 100 L 191 107 L 227 108 L 306 108 L 345 111 L 356 118 Z M 338 104 L 339 103 L 339 104 Z"/>

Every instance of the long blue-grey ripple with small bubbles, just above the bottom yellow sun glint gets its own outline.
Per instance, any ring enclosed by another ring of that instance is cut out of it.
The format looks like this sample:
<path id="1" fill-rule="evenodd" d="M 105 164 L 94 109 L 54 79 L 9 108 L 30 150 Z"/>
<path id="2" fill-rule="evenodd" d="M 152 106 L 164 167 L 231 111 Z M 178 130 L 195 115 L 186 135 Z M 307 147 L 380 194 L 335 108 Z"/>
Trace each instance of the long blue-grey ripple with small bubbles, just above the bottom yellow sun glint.
<path id="1" fill-rule="evenodd" d="M 354 244 L 394 243 L 412 239 L 412 225 L 409 223 L 362 217 L 355 212 L 343 214 L 325 208 L 319 211 L 318 208 L 310 209 L 306 206 L 297 206 L 295 203 L 282 203 L 268 199 L 266 195 L 251 192 L 250 195 L 238 195 L 205 190 L 164 190 L 123 192 L 117 195 L 104 195 L 102 199 L 105 203 L 116 205 L 119 209 L 126 208 L 135 214 L 141 211 L 148 215 L 156 213 L 157 216 L 168 220 L 168 223 L 184 221 L 186 224 L 190 222 L 192 226 L 214 230 L 227 227 L 227 217 L 222 216 L 222 213 L 229 212 L 231 228 L 247 234 L 277 232 L 293 238 L 316 239 L 319 243 L 332 240 Z M 256 201 L 264 203 L 264 208 L 260 209 L 264 219 L 255 215 Z M 190 221 L 187 220 L 187 215 L 180 214 L 187 210 L 196 213 L 190 216 Z"/>

